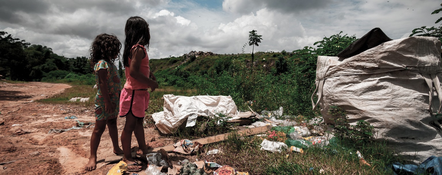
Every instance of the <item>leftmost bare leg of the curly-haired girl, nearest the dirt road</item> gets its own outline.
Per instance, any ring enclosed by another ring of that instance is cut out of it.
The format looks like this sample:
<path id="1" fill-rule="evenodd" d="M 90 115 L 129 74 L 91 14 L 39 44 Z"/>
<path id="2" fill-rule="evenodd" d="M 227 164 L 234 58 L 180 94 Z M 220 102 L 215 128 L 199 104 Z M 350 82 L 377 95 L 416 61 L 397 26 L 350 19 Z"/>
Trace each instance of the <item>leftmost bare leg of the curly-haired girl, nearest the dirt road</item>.
<path id="1" fill-rule="evenodd" d="M 94 131 L 92 131 L 91 136 L 91 156 L 89 157 L 88 164 L 84 167 L 86 171 L 95 170 L 97 167 L 97 149 L 104 129 L 106 129 L 106 120 L 95 120 Z"/>

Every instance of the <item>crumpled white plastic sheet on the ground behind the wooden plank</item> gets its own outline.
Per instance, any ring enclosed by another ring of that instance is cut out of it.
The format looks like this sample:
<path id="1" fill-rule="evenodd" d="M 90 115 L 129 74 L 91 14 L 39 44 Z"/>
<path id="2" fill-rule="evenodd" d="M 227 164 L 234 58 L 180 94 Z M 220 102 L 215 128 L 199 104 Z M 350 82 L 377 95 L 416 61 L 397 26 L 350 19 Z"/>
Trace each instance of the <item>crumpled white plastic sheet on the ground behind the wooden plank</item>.
<path id="1" fill-rule="evenodd" d="M 164 111 L 152 114 L 155 125 L 161 133 L 175 133 L 183 122 L 186 127 L 194 126 L 198 116 L 227 114 L 230 120 L 239 119 L 236 104 L 230 96 L 178 96 L 163 95 Z"/>

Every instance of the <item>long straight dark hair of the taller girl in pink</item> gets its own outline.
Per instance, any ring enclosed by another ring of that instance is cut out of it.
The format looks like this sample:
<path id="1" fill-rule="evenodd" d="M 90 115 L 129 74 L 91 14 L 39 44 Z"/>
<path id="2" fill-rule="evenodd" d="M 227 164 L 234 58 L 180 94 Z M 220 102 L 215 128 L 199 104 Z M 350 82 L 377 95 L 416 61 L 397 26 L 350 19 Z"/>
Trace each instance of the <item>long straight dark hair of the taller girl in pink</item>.
<path id="1" fill-rule="evenodd" d="M 149 23 L 139 16 L 132 16 L 126 21 L 124 28 L 126 39 L 124 40 L 123 65 L 129 67 L 129 57 L 132 57 L 130 50 L 132 46 L 140 44 L 149 49 L 150 31 Z"/>

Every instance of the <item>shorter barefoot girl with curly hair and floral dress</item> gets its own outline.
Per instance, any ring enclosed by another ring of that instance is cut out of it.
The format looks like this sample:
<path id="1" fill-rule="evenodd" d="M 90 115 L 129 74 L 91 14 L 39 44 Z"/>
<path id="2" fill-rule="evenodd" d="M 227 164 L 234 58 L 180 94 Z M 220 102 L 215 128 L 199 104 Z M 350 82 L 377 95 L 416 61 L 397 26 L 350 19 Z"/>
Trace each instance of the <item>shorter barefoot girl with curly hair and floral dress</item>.
<path id="1" fill-rule="evenodd" d="M 94 66 L 95 83 L 98 91 L 95 95 L 95 127 L 91 136 L 91 156 L 84 167 L 86 171 L 95 170 L 97 164 L 97 149 L 104 130 L 109 129 L 110 139 L 116 155 L 123 150 L 118 145 L 117 116 L 121 92 L 120 77 L 115 59 L 120 55 L 121 42 L 115 35 L 99 34 L 92 42 L 91 65 Z"/>

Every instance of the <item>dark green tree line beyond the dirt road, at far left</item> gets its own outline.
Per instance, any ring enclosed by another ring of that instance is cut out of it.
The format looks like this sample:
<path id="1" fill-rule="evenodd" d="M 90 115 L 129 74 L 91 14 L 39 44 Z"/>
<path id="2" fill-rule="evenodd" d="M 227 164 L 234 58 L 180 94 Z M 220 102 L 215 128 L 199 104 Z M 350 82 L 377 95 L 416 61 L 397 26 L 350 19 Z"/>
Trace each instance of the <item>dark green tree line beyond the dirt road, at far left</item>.
<path id="1" fill-rule="evenodd" d="M 2 79 L 41 81 L 63 79 L 69 73 L 90 74 L 87 57 L 67 58 L 42 45 L 31 45 L 0 31 L 0 76 Z"/>

